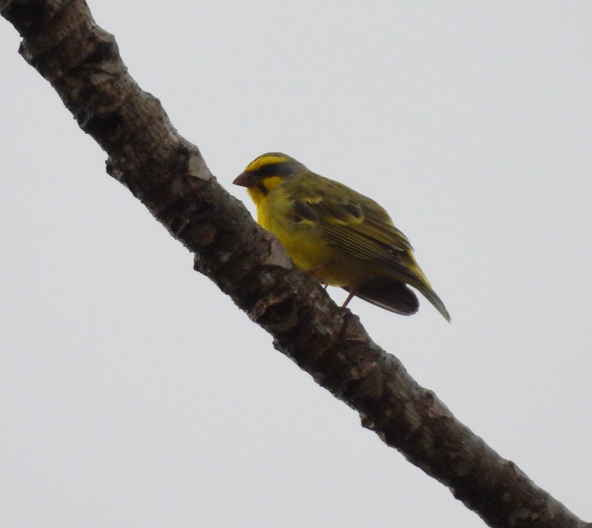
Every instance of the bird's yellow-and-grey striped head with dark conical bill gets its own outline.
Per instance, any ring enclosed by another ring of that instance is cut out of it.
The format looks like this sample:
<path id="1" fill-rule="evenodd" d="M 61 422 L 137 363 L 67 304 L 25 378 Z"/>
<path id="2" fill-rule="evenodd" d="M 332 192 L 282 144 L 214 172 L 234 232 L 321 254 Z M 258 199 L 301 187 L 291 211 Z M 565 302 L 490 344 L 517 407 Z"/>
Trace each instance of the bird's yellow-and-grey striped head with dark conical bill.
<path id="1" fill-rule="evenodd" d="M 247 188 L 255 204 L 265 198 L 271 189 L 281 185 L 306 167 L 281 152 L 268 152 L 256 157 L 233 181 Z"/>

